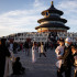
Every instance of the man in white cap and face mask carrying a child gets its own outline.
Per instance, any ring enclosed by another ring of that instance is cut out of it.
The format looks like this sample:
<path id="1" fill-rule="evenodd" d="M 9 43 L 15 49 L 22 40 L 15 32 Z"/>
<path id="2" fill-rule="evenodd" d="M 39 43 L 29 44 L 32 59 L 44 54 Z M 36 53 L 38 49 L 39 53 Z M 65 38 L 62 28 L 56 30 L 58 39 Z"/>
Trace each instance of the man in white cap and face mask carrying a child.
<path id="1" fill-rule="evenodd" d="M 69 37 L 65 40 L 65 50 L 63 57 L 58 59 L 64 59 L 64 63 L 61 69 L 57 72 L 57 77 L 63 77 L 63 73 L 65 73 L 65 77 L 70 77 L 72 64 L 74 63 L 74 57 L 72 53 L 72 41 Z"/>

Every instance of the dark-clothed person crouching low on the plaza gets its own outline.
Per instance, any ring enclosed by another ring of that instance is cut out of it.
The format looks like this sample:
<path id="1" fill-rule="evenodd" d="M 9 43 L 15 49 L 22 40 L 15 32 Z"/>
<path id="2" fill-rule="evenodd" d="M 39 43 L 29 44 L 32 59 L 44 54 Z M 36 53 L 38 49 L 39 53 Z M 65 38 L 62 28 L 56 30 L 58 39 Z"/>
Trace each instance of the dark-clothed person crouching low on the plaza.
<path id="1" fill-rule="evenodd" d="M 15 58 L 15 62 L 13 63 L 13 75 L 22 75 L 24 74 L 25 68 L 22 67 L 22 64 L 20 62 L 20 57 Z"/>

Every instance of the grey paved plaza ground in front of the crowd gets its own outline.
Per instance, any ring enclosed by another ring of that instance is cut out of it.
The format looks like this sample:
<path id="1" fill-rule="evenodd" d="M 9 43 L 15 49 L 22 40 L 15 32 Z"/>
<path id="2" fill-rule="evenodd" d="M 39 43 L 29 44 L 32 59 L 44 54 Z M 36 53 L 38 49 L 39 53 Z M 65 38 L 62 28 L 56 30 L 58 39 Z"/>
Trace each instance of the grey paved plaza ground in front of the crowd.
<path id="1" fill-rule="evenodd" d="M 37 53 L 37 62 L 32 63 L 32 57 L 30 53 L 30 57 L 25 56 L 24 52 L 19 52 L 15 56 L 21 57 L 22 65 L 26 68 L 24 75 L 20 77 L 57 77 L 56 76 L 56 55 L 54 50 L 48 50 L 46 52 L 46 56 L 38 57 Z"/>

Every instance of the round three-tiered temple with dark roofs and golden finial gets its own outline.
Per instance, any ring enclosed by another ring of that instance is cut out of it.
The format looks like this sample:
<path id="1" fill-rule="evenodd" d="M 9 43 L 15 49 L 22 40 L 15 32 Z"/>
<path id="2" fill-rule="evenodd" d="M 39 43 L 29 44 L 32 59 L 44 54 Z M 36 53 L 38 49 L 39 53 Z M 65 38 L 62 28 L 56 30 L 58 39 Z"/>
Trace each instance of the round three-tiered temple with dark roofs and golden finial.
<path id="1" fill-rule="evenodd" d="M 52 1 L 51 8 L 42 12 L 44 18 L 37 21 L 41 25 L 36 26 L 35 30 L 37 32 L 67 32 L 69 28 L 65 25 L 67 20 L 61 18 L 64 12 L 57 10 Z"/>

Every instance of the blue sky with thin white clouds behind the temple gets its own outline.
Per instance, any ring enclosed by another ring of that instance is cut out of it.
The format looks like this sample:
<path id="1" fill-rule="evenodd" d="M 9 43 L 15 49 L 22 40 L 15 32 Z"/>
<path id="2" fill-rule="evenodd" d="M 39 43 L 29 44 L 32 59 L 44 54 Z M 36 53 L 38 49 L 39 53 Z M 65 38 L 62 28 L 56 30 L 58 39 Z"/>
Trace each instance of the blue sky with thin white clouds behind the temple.
<path id="1" fill-rule="evenodd" d="M 35 32 L 41 12 L 51 7 L 52 0 L 0 0 L 0 36 L 19 32 Z M 56 9 L 67 19 L 69 32 L 77 32 L 77 0 L 54 0 Z"/>

